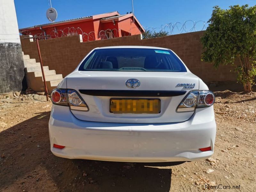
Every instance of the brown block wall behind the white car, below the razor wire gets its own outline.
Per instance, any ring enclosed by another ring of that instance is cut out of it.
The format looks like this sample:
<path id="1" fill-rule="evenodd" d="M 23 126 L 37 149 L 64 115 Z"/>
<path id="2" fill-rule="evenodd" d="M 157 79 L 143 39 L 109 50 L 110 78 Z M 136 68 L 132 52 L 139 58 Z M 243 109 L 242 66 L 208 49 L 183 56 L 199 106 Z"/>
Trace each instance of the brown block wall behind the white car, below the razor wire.
<path id="1" fill-rule="evenodd" d="M 114 45 L 145 45 L 172 49 L 188 68 L 206 83 L 236 81 L 235 74 L 230 72 L 230 66 L 220 66 L 218 70 L 215 70 L 212 64 L 201 61 L 200 37 L 203 33 L 204 31 L 200 31 L 143 40 L 140 35 L 134 35 L 92 42 L 81 42 L 77 35 L 42 40 L 39 45 L 44 66 L 55 69 L 57 74 L 61 73 L 63 76 L 72 72 L 93 48 Z M 29 54 L 30 58 L 35 58 L 39 62 L 36 42 L 21 39 L 21 46 L 25 54 Z"/>

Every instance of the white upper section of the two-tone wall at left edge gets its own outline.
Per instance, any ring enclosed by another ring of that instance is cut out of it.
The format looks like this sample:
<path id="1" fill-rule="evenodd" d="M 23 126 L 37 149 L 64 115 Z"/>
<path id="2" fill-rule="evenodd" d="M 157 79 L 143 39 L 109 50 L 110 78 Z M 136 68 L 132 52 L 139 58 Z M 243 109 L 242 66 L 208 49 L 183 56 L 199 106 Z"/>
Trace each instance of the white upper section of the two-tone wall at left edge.
<path id="1" fill-rule="evenodd" d="M 20 43 L 14 0 L 0 0 L 0 43 Z"/>

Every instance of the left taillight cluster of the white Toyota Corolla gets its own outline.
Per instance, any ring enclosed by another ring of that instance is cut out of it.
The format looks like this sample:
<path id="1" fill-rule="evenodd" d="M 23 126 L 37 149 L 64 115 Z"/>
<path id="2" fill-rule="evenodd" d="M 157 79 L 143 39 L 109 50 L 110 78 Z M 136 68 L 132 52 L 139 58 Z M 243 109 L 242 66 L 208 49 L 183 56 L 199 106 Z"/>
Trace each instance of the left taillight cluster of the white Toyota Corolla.
<path id="1" fill-rule="evenodd" d="M 55 105 L 69 106 L 71 110 L 88 111 L 83 98 L 73 89 L 53 89 L 51 93 L 52 103 Z"/>

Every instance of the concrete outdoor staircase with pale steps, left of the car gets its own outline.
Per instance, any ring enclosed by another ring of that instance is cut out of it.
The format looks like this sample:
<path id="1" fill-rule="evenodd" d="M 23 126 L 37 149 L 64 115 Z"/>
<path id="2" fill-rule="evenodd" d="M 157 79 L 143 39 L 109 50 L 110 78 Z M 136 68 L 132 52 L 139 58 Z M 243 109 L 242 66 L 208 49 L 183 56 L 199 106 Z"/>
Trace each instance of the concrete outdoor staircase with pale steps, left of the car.
<path id="1" fill-rule="evenodd" d="M 30 59 L 29 55 L 24 55 L 23 52 L 22 55 L 28 87 L 30 87 L 35 92 L 44 92 L 44 80 L 40 63 L 36 62 L 36 59 Z M 44 66 L 43 68 L 46 86 L 50 94 L 52 89 L 56 88 L 57 85 L 62 81 L 62 74 L 56 74 L 56 71 L 49 70 L 48 66 Z"/>

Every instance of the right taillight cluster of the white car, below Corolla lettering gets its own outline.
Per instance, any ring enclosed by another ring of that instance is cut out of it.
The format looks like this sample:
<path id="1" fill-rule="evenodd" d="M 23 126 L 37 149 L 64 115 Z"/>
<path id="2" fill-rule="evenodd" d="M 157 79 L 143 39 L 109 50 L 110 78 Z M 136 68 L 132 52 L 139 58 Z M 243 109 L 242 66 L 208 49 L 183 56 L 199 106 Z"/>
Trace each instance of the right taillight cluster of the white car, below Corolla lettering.
<path id="1" fill-rule="evenodd" d="M 180 102 L 177 112 L 195 111 L 196 108 L 210 107 L 215 101 L 211 91 L 191 91 Z"/>

